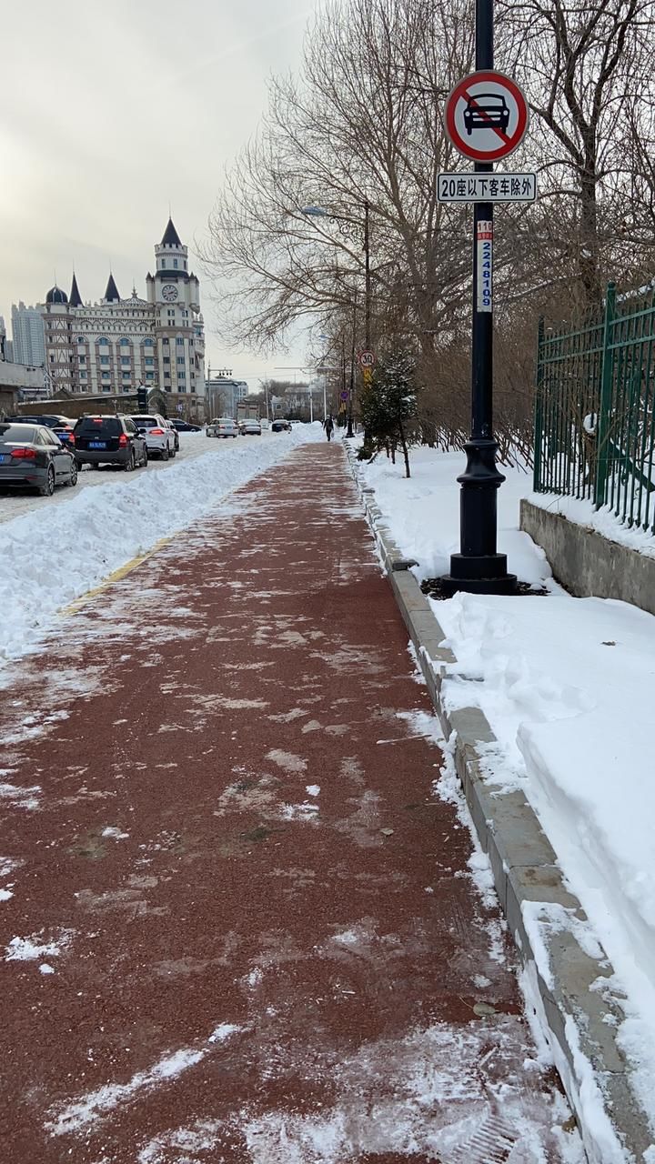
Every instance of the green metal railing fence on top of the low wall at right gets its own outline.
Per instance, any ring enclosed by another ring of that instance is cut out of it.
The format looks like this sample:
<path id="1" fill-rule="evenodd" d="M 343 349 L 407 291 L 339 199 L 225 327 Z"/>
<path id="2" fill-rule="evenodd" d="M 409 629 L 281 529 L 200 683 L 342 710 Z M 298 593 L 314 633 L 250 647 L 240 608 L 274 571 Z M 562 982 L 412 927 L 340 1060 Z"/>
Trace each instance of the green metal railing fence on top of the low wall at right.
<path id="1" fill-rule="evenodd" d="M 570 329 L 540 322 L 536 492 L 589 498 L 655 532 L 655 293 L 617 296 Z"/>

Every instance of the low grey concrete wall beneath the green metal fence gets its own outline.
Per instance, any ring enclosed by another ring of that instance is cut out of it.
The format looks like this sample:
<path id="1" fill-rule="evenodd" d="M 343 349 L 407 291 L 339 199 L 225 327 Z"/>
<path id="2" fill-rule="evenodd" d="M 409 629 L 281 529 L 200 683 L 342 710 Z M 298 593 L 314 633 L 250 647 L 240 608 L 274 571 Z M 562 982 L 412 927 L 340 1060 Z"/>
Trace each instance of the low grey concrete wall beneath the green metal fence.
<path id="1" fill-rule="evenodd" d="M 578 598 L 619 598 L 655 615 L 655 558 L 521 502 L 521 530 L 545 551 L 558 582 Z"/>

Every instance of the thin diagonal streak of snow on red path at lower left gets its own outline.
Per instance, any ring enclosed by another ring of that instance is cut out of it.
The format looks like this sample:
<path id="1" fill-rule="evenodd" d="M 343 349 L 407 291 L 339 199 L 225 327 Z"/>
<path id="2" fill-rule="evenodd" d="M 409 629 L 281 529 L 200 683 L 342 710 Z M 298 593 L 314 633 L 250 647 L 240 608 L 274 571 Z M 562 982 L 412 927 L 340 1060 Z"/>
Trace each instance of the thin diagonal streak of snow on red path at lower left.
<path id="1" fill-rule="evenodd" d="M 214 1028 L 206 1043 L 197 1048 L 181 1048 L 178 1051 L 165 1055 L 148 1071 L 138 1071 L 126 1084 L 106 1084 L 70 1103 L 55 1103 L 48 1113 L 48 1120 L 44 1123 L 45 1130 L 51 1136 L 82 1131 L 117 1107 L 132 1102 L 140 1092 L 152 1091 L 167 1084 L 170 1079 L 176 1079 L 184 1071 L 196 1066 L 207 1055 L 211 1055 L 216 1044 L 225 1043 L 240 1030 L 242 1028 L 233 1023 L 221 1023 Z"/>

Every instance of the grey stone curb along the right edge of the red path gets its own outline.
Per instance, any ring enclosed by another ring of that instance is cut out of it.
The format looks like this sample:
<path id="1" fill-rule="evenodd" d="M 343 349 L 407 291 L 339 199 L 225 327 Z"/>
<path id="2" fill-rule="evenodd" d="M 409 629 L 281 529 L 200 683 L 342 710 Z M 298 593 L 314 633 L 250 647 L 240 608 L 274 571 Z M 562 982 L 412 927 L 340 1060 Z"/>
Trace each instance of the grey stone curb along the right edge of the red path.
<path id="1" fill-rule="evenodd" d="M 580 902 L 566 889 L 555 851 L 523 793 L 486 783 L 484 745 L 495 737 L 483 711 L 446 709 L 442 683 L 448 665 L 457 660 L 441 646 L 445 634 L 409 570 L 416 563 L 395 546 L 374 490 L 362 482 L 354 450 L 348 445 L 344 449 L 444 736 L 455 733 L 457 774 L 590 1164 L 646 1162 L 653 1158 L 645 1154 L 654 1137 L 615 1036 L 625 1014 L 613 993 L 614 970 Z"/>

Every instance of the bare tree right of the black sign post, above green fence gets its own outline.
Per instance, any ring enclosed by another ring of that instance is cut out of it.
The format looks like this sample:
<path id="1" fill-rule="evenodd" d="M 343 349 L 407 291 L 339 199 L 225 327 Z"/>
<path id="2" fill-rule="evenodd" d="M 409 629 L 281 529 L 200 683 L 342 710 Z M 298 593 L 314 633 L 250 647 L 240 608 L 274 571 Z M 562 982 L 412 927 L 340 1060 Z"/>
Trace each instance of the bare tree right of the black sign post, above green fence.
<path id="1" fill-rule="evenodd" d="M 526 152 L 541 162 L 559 232 L 548 255 L 582 306 L 598 303 L 610 274 L 631 278 L 643 265 L 631 143 L 652 107 L 652 0 L 499 0 L 496 10 L 499 58 L 535 114 Z M 649 250 L 652 262 L 652 240 Z"/>

